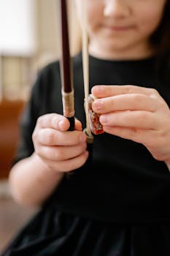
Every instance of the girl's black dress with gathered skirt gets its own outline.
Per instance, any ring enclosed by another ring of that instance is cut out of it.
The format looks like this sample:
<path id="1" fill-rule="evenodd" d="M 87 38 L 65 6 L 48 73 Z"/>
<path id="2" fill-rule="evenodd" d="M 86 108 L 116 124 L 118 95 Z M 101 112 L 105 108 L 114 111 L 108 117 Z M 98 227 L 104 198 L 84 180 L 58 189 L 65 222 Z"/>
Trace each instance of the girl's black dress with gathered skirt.
<path id="1" fill-rule="evenodd" d="M 82 56 L 73 59 L 75 116 L 85 127 Z M 158 81 L 155 59 L 105 61 L 90 56 L 94 85 L 155 88 L 169 104 L 168 83 Z M 58 62 L 43 69 L 21 121 L 15 162 L 34 151 L 36 119 L 62 113 Z M 91 160 L 65 176 L 3 256 L 170 255 L 170 174 L 147 148 L 113 135 L 95 135 Z"/>

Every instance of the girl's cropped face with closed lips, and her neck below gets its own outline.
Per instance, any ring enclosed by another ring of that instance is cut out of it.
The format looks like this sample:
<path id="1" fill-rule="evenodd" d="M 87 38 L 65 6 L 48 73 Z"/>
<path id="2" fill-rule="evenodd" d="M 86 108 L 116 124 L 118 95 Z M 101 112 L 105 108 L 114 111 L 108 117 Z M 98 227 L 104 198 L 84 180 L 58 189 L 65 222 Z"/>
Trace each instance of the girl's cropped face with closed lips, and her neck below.
<path id="1" fill-rule="evenodd" d="M 87 12 L 90 53 L 111 59 L 151 54 L 150 35 L 161 21 L 166 0 L 75 1 L 80 20 L 82 10 Z"/>

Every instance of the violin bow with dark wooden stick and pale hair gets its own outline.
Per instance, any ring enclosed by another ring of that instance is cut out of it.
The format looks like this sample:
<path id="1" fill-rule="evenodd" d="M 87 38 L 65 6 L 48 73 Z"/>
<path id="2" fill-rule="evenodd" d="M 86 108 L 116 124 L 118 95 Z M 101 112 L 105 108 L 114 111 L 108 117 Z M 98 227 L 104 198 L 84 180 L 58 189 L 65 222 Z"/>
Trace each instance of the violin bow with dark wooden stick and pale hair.
<path id="1" fill-rule="evenodd" d="M 63 101 L 63 116 L 69 119 L 69 130 L 74 130 L 74 89 L 72 83 L 71 72 L 71 57 L 69 50 L 69 29 L 68 29 L 68 12 L 66 0 L 60 0 L 61 7 L 61 83 L 62 83 L 62 101 Z M 85 7 L 85 6 L 84 6 Z M 93 148 L 93 135 L 90 131 L 89 116 L 88 116 L 88 94 L 89 94 L 89 69 L 88 69 L 88 34 L 85 29 L 86 15 L 82 10 L 82 65 L 83 78 L 85 89 L 85 115 L 86 128 L 84 129 L 87 135 L 88 151 L 91 156 Z"/>

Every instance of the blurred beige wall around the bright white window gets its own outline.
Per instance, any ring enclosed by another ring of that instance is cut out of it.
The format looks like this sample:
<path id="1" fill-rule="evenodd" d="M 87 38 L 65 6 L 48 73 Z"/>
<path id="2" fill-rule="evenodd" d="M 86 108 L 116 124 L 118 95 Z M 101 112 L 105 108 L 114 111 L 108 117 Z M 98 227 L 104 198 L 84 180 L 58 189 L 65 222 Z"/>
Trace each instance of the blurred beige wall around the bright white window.
<path id="1" fill-rule="evenodd" d="M 68 1 L 71 53 L 74 55 L 80 50 L 80 26 L 75 14 L 74 0 Z M 7 56 L 0 56 L 2 91 L 3 97 L 7 99 L 26 99 L 37 70 L 60 56 L 58 0 L 34 0 L 34 3 L 34 56 L 11 56 L 10 53 Z"/>

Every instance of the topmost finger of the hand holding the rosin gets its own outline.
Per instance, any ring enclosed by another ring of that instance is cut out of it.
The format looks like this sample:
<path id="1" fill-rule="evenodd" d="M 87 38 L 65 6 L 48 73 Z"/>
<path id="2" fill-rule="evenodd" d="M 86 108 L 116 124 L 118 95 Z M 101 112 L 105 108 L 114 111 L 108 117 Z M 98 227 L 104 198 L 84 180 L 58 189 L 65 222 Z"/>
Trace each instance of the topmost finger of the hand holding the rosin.
<path id="1" fill-rule="evenodd" d="M 120 94 L 144 94 L 158 97 L 158 91 L 141 86 L 93 86 L 92 94 L 98 98 L 111 97 Z"/>

